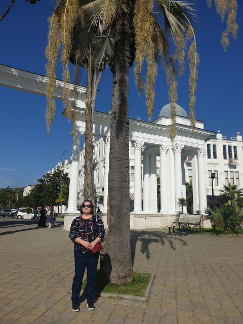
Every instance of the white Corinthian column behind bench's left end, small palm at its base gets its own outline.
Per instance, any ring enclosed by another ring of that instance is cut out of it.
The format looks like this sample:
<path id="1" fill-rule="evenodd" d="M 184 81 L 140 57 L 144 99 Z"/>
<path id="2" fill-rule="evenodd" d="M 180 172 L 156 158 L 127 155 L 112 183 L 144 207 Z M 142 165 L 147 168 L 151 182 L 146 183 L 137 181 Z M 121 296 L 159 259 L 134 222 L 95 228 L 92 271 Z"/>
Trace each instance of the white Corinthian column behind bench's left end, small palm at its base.
<path id="1" fill-rule="evenodd" d="M 178 198 L 182 197 L 182 171 L 181 171 L 181 150 L 184 145 L 174 144 L 172 149 L 175 156 L 175 206 L 176 211 L 179 211 L 177 205 Z"/>

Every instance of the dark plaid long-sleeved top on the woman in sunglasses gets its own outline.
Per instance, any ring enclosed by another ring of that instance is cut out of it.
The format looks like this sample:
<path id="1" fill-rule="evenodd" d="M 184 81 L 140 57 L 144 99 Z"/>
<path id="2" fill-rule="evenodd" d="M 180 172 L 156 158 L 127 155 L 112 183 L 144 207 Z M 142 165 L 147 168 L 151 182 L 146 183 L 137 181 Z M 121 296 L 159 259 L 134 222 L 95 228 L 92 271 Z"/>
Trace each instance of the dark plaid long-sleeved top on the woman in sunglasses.
<path id="1" fill-rule="evenodd" d="M 104 238 L 104 225 L 99 216 L 92 215 L 92 218 L 87 220 L 83 219 L 82 216 L 74 218 L 69 232 L 69 237 L 72 240 L 72 242 L 74 242 L 77 237 L 80 237 L 84 241 L 87 241 L 87 233 L 88 241 L 90 243 L 93 242 L 97 237 L 100 237 L 101 240 Z M 90 250 L 87 250 L 82 244 L 78 244 L 77 242 L 74 242 L 74 249 L 83 253 L 90 252 Z"/>

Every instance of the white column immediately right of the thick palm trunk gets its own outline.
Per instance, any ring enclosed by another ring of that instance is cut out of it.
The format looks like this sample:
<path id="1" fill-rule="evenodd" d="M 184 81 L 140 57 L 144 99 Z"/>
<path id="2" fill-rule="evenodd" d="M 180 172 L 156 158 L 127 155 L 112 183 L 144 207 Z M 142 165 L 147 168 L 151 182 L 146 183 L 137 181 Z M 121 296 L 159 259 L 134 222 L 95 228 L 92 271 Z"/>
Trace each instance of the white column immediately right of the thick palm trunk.
<path id="1" fill-rule="evenodd" d="M 134 210 L 133 213 L 142 212 L 142 184 L 141 184 L 141 148 L 143 142 L 134 143 Z"/>

